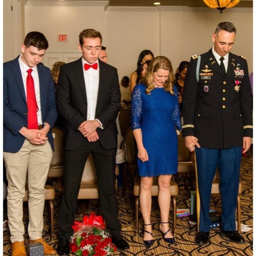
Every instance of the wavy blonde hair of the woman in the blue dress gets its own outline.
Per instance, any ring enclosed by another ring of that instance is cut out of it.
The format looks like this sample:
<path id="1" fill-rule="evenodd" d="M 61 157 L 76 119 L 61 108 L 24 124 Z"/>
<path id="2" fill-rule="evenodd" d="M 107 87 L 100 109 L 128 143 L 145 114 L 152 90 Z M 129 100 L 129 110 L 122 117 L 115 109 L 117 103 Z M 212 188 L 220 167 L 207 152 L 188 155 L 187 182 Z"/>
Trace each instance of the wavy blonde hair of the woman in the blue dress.
<path id="1" fill-rule="evenodd" d="M 170 60 L 164 56 L 158 56 L 151 60 L 148 66 L 148 73 L 143 78 L 143 83 L 146 85 L 146 94 L 150 95 L 150 92 L 155 88 L 153 84 L 154 81 L 154 72 L 159 69 L 169 70 L 170 74 L 168 79 L 163 84 L 164 90 L 170 92 L 171 95 L 174 95 L 174 83 L 175 83 L 175 76 L 172 69 L 172 64 Z"/>

